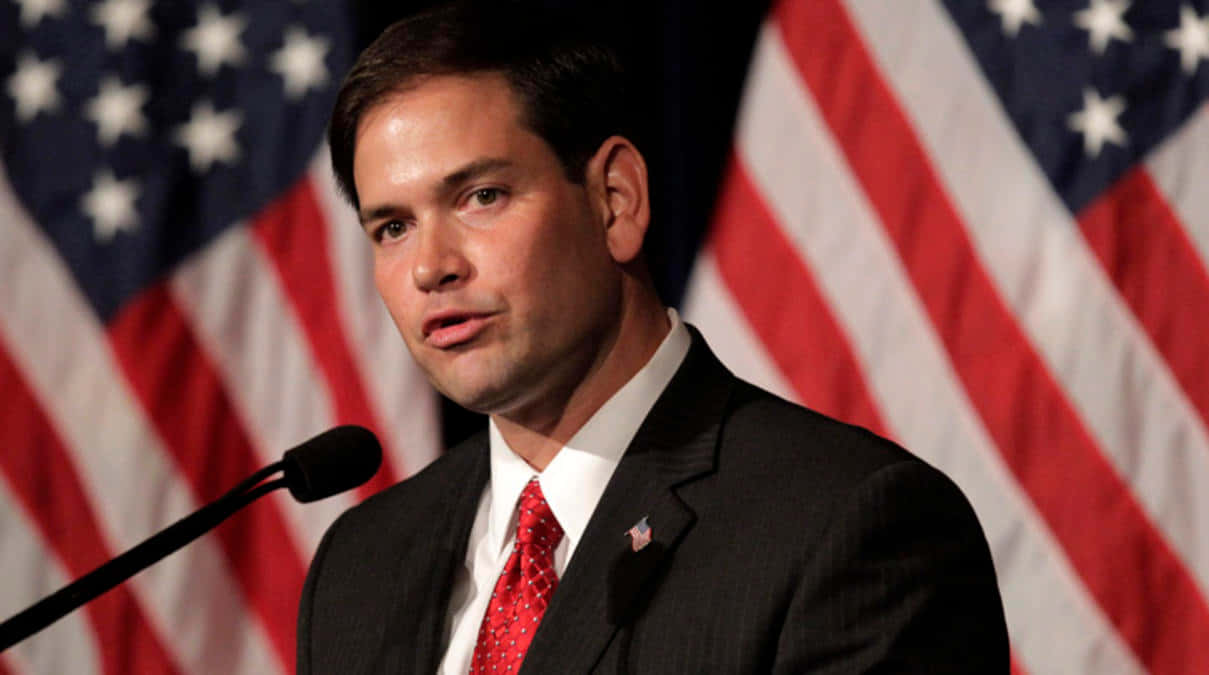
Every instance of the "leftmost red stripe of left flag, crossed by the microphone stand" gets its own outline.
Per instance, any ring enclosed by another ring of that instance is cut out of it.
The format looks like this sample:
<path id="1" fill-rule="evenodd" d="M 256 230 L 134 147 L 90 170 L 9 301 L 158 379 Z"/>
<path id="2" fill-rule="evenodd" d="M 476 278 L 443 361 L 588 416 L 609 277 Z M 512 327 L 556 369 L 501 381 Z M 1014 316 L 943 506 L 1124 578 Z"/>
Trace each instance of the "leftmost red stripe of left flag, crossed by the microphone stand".
<path id="1" fill-rule="evenodd" d="M 112 556 L 63 440 L 0 344 L 0 473 L 73 577 Z M 4 583 L 22 583 L 7 579 Z M 127 584 L 85 605 L 105 673 L 179 673 Z"/>

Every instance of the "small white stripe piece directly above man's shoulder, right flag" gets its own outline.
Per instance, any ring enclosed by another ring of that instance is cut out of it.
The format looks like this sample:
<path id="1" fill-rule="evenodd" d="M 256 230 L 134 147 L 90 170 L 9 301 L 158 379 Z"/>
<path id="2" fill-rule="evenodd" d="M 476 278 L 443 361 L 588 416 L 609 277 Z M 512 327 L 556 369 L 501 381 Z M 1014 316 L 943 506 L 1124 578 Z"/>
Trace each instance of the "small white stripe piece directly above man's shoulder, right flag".
<path id="1" fill-rule="evenodd" d="M 701 331 L 718 358 L 742 379 L 781 398 L 798 400 L 793 385 L 785 379 L 744 318 L 735 296 L 718 272 L 712 244 L 702 248 L 693 264 L 684 293 L 684 318 Z"/>

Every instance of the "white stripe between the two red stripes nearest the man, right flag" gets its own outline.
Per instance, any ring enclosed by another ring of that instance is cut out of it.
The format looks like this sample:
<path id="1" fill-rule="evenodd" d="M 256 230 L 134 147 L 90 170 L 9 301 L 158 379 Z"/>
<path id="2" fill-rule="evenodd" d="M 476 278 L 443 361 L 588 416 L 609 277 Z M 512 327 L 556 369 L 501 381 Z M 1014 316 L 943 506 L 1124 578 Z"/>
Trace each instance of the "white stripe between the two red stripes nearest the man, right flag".
<path id="1" fill-rule="evenodd" d="M 740 161 L 814 272 L 893 434 L 973 503 L 1018 658 L 1034 673 L 1139 673 L 966 398 L 779 31 L 765 29 L 754 59 Z"/>

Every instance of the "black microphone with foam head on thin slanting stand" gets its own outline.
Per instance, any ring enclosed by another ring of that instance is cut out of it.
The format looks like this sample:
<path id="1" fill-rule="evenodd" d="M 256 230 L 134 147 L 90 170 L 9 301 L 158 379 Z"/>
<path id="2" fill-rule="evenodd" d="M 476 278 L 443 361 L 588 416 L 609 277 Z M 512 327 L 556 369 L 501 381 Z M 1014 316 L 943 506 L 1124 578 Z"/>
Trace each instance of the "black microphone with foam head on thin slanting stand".
<path id="1" fill-rule="evenodd" d="M 288 488 L 300 502 L 313 502 L 357 488 L 377 473 L 381 463 L 382 445 L 374 432 L 354 425 L 328 429 L 287 450 L 279 462 L 249 475 L 218 500 L 0 623 L 0 652 L 209 532 L 278 488 Z M 282 478 L 266 480 L 277 472 L 283 473 Z"/>

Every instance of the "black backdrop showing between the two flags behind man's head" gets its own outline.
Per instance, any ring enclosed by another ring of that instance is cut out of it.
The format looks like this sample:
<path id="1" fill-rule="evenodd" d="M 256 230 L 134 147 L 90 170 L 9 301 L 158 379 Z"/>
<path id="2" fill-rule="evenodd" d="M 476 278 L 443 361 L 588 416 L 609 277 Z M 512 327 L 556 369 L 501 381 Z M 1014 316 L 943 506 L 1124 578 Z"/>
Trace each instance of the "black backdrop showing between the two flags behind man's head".
<path id="1" fill-rule="evenodd" d="M 354 0 L 360 47 L 393 21 L 433 4 Z M 592 5 L 600 13 L 598 1 Z M 565 8 L 566 2 L 530 0 L 525 6 L 542 11 Z M 618 0 L 607 7 L 602 33 L 630 64 L 630 86 L 641 109 L 635 142 L 652 173 L 654 224 L 647 258 L 660 295 L 678 305 L 730 151 L 747 59 L 768 1 Z M 485 423 L 449 400 L 441 412 L 446 445 Z"/>

